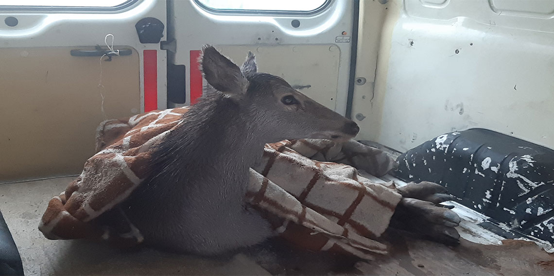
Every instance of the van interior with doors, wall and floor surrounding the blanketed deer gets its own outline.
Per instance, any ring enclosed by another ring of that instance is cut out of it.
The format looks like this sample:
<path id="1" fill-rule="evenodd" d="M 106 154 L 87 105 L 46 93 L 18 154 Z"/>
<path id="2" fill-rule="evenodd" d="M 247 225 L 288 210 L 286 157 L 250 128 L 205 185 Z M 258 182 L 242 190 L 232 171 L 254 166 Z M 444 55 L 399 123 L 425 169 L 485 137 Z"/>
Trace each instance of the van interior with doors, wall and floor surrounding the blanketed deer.
<path id="1" fill-rule="evenodd" d="M 0 19 L 3 274 L 554 274 L 553 1 L 0 0 Z M 206 95 L 206 44 L 355 122 L 396 164 L 361 171 L 372 183 L 445 187 L 459 244 L 392 224 L 373 260 L 281 239 L 202 257 L 45 238 L 99 125 Z"/>

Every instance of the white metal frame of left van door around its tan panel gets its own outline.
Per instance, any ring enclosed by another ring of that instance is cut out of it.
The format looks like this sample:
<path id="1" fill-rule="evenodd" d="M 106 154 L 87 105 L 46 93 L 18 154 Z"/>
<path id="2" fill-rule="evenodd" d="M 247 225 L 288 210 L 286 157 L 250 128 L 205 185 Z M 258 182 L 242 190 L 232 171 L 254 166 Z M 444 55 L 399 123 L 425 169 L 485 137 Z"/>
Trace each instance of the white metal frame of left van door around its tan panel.
<path id="1" fill-rule="evenodd" d="M 130 2 L 130 4 L 129 7 L 111 12 L 95 11 L 94 9 L 86 12 L 75 9 L 55 12 L 45 9 L 2 11 L 0 17 L 16 17 L 19 23 L 16 27 L 9 27 L 0 22 L 0 48 L 73 46 L 78 47 L 75 49 L 83 49 L 83 47 L 94 45 L 105 48 L 105 36 L 113 34 L 115 45 L 137 49 L 141 60 L 142 50 L 153 49 L 158 50 L 157 63 L 166 64 L 166 51 L 160 50 L 160 44 L 140 43 L 135 29 L 135 23 L 145 17 L 155 17 L 165 24 L 166 1 L 141 0 Z M 166 35 L 166 29 L 163 30 L 164 35 Z M 142 66 L 139 68 L 142 84 Z M 166 67 L 158 67 L 158 109 L 167 107 L 166 75 Z M 141 106 L 143 106 L 142 85 L 140 89 Z M 141 108 L 140 111 L 143 109 Z"/>

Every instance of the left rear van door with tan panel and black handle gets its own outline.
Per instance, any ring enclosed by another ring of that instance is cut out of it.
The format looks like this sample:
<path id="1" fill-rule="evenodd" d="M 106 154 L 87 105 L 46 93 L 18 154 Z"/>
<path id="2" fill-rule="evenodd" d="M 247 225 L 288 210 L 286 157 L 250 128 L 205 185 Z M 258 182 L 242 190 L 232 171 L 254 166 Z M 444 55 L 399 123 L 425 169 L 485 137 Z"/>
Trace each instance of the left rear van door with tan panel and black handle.
<path id="1" fill-rule="evenodd" d="M 78 174 L 101 121 L 166 108 L 165 1 L 0 0 L 0 19 L 0 182 Z"/>

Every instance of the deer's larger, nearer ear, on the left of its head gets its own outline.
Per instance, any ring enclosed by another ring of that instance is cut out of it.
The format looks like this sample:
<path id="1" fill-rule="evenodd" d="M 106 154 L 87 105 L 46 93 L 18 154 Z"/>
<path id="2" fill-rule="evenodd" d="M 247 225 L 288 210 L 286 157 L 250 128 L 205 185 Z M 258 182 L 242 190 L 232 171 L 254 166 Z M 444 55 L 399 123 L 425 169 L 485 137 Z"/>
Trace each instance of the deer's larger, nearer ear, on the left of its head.
<path id="1" fill-rule="evenodd" d="M 248 80 L 244 78 L 239 67 L 212 45 L 202 47 L 200 64 L 204 78 L 213 88 L 232 97 L 246 93 Z"/>

